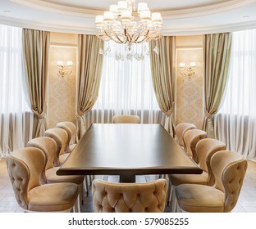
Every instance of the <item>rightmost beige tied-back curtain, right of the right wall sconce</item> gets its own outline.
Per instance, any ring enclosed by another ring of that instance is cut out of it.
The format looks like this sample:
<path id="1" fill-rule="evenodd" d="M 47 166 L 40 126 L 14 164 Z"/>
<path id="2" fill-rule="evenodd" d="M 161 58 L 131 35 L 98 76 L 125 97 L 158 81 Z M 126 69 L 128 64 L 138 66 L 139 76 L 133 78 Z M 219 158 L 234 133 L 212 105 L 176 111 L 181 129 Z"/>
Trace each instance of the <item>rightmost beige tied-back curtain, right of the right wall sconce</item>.
<path id="1" fill-rule="evenodd" d="M 203 130 L 208 132 L 208 137 L 215 137 L 213 115 L 217 114 L 226 90 L 227 73 L 231 59 L 231 38 L 231 33 L 203 36 Z"/>

